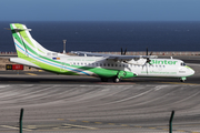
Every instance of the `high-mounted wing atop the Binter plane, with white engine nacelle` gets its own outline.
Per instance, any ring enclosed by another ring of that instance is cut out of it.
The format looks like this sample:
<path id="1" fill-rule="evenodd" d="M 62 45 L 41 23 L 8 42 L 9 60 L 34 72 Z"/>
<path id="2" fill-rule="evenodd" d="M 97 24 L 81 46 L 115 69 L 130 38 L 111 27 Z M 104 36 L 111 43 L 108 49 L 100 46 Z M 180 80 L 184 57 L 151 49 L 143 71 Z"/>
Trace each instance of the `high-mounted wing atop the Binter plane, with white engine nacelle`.
<path id="1" fill-rule="evenodd" d="M 150 59 L 158 58 L 157 55 L 118 55 L 118 54 L 103 54 L 103 53 L 91 53 L 84 51 L 71 51 L 71 53 L 83 55 L 83 57 L 103 57 L 107 60 L 120 61 L 132 64 L 144 64 Z"/>

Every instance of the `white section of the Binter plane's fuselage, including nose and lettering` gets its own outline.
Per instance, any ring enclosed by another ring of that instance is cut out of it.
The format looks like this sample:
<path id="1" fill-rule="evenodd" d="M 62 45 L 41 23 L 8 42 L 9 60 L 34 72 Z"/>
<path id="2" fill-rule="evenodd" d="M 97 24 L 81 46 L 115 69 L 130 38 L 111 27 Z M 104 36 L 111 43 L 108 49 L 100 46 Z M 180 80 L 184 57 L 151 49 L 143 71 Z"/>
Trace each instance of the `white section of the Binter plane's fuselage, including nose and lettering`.
<path id="1" fill-rule="evenodd" d="M 194 73 L 183 61 L 176 59 L 152 59 L 151 64 L 130 64 L 124 62 L 114 62 L 102 57 L 68 57 L 60 58 L 60 61 L 71 65 L 103 68 L 113 70 L 129 71 L 138 76 L 189 76 Z"/>

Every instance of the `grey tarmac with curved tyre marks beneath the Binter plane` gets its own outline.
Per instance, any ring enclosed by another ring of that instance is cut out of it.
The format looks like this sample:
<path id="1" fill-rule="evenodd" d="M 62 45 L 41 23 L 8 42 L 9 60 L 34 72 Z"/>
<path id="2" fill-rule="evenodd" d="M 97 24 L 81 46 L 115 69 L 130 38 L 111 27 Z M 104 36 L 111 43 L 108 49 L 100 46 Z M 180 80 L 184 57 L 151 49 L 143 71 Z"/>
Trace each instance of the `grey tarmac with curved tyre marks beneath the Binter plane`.
<path id="1" fill-rule="evenodd" d="M 97 78 L 47 72 L 0 72 L 0 133 L 200 133 L 199 64 L 193 76 L 128 79 L 102 83 Z"/>

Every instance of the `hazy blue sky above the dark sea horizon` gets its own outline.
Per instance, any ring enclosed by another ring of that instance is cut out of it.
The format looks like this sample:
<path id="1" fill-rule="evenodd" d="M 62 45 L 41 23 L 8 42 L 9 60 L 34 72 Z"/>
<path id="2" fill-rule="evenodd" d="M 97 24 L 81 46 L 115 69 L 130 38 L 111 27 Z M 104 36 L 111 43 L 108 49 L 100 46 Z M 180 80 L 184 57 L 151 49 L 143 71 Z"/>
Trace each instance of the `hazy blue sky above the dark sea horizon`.
<path id="1" fill-rule="evenodd" d="M 200 0 L 1 0 L 0 21 L 200 21 Z"/>

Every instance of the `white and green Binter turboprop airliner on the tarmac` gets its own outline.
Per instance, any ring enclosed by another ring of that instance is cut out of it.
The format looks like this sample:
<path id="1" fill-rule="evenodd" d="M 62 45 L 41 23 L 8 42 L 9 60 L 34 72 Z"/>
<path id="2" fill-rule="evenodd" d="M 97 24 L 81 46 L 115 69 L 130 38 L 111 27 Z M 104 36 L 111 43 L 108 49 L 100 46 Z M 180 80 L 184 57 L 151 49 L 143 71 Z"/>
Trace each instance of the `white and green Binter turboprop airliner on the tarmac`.
<path id="1" fill-rule="evenodd" d="M 24 64 L 66 75 L 100 78 L 102 82 L 112 79 L 120 82 L 127 78 L 177 78 L 184 81 L 194 71 L 177 59 L 157 59 L 153 55 L 116 55 L 76 51 L 79 55 L 67 55 L 47 50 L 30 34 L 24 24 L 11 23 L 10 30 L 18 58 L 11 62 Z"/>

